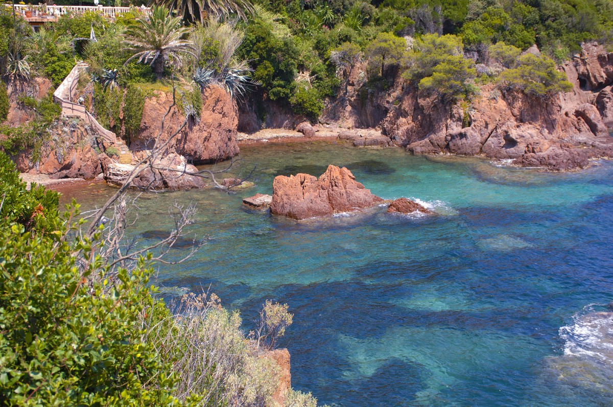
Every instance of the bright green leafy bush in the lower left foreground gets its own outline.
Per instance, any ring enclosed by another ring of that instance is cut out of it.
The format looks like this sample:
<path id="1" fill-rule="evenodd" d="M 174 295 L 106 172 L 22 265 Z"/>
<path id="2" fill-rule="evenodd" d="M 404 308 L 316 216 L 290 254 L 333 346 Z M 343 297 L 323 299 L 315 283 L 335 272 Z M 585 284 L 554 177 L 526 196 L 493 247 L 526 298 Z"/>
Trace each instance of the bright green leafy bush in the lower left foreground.
<path id="1" fill-rule="evenodd" d="M 20 406 L 176 403 L 167 367 L 140 340 L 152 270 L 141 260 L 131 274 L 107 275 L 101 258 L 88 257 L 92 242 L 69 235 L 58 194 L 27 191 L 2 153 L 0 163 L 0 398 Z"/>

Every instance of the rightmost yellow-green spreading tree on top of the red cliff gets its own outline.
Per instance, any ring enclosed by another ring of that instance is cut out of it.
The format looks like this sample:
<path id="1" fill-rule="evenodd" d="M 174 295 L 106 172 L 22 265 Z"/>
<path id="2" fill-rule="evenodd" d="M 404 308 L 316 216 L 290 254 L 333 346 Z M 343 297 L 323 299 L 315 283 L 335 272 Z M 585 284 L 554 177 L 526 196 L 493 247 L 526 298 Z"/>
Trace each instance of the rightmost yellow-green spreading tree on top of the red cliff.
<path id="1" fill-rule="evenodd" d="M 531 96 L 544 97 L 567 92 L 573 85 L 566 75 L 555 69 L 555 63 L 545 55 L 526 54 L 519 58 L 515 69 L 504 70 L 499 77 L 503 88 L 517 89 Z"/>

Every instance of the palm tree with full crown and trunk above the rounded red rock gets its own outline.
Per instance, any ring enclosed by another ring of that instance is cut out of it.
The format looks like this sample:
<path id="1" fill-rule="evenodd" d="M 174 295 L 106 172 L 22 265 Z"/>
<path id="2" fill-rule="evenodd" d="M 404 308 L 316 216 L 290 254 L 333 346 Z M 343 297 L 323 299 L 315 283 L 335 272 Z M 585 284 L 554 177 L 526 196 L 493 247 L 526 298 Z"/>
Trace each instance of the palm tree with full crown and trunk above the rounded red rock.
<path id="1" fill-rule="evenodd" d="M 139 17 L 136 25 L 128 29 L 126 43 L 136 53 L 126 64 L 138 58 L 140 63 L 150 64 L 161 78 L 169 59 L 180 66 L 182 54 L 194 56 L 192 42 L 184 39 L 190 32 L 191 28 L 181 25 L 181 17 L 172 17 L 166 7 L 153 6 L 148 19 Z"/>

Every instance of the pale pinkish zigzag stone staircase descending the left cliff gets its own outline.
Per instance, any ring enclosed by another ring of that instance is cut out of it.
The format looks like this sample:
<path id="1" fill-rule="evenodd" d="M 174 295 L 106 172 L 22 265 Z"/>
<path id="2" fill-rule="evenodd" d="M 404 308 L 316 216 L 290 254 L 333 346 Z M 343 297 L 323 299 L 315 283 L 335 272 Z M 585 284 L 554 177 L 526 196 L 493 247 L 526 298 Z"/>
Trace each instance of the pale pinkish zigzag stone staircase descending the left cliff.
<path id="1" fill-rule="evenodd" d="M 89 123 L 94 132 L 102 137 L 105 145 L 114 145 L 117 142 L 115 133 L 102 127 L 101 124 L 97 122 L 96 118 L 85 109 L 85 106 L 72 101 L 75 89 L 77 88 L 78 79 L 82 72 L 87 72 L 88 68 L 89 65 L 86 63 L 77 63 L 72 70 L 70 70 L 70 74 L 68 74 L 62 83 L 59 84 L 58 88 L 55 89 L 53 99 L 61 105 L 62 114 L 64 116 L 82 118 L 86 123 Z"/>

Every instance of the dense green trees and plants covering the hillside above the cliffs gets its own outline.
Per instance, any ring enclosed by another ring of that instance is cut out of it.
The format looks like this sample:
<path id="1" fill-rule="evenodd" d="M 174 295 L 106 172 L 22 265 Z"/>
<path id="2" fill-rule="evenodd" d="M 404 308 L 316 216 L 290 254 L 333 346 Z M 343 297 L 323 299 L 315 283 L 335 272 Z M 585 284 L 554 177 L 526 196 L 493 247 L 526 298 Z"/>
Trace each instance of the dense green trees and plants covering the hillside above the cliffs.
<path id="1" fill-rule="evenodd" d="M 115 82 L 124 92 L 130 84 L 194 78 L 201 87 L 216 82 L 256 105 L 276 101 L 316 120 L 325 97 L 340 95 L 342 85 L 346 91 L 352 69 L 362 61 L 369 88 L 387 89 L 402 74 L 448 101 L 471 97 L 475 80 L 483 82 L 484 70 L 477 74 L 476 64 L 497 61 L 513 71 L 489 70 L 488 80 L 493 76 L 501 87 L 543 97 L 566 88 L 550 72 L 552 60 L 568 58 L 585 40 L 613 40 L 611 0 L 155 3 L 177 10 L 177 17 L 162 7 L 151 18 L 134 9 L 115 21 L 86 12 L 32 32 L 2 10 L 1 73 L 7 82 L 38 75 L 57 85 L 75 60 L 84 59 L 97 77 L 116 70 Z M 97 42 L 86 40 L 91 27 Z M 507 49 L 504 59 L 501 44 L 519 52 L 536 44 L 544 56 L 519 63 L 519 55 Z M 264 115 L 263 108 L 256 111 Z"/>

